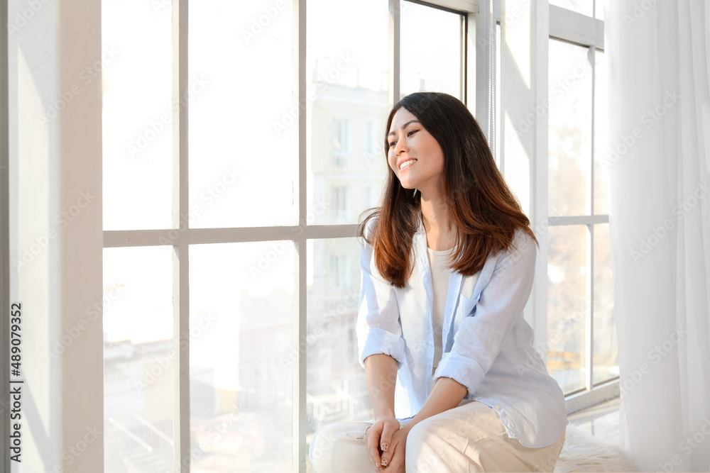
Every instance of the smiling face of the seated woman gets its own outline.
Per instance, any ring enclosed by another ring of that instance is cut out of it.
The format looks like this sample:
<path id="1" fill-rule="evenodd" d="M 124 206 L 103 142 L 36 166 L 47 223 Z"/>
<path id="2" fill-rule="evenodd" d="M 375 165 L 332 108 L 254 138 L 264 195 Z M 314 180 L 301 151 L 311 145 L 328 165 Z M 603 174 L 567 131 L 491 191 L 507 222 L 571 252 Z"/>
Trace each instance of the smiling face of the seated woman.
<path id="1" fill-rule="evenodd" d="M 388 165 L 405 189 L 419 189 L 422 199 L 439 195 L 444 152 L 410 111 L 400 108 L 392 118 L 387 142 Z"/>

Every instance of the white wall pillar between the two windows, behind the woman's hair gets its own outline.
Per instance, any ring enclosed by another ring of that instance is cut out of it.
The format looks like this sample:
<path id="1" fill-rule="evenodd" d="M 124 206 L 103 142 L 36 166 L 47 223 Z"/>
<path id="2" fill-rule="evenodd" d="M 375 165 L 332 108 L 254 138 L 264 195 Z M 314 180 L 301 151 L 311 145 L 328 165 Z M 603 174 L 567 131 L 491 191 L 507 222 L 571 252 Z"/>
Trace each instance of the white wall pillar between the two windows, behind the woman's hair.
<path id="1" fill-rule="evenodd" d="M 535 346 L 547 342 L 547 0 L 501 0 L 501 145 L 503 175 L 540 243 L 535 288 L 525 320 Z M 535 113 L 535 111 L 544 113 Z M 534 117 L 530 120 L 530 116 Z M 521 128 L 521 123 L 530 123 Z M 541 353 L 547 358 L 547 350 Z"/>

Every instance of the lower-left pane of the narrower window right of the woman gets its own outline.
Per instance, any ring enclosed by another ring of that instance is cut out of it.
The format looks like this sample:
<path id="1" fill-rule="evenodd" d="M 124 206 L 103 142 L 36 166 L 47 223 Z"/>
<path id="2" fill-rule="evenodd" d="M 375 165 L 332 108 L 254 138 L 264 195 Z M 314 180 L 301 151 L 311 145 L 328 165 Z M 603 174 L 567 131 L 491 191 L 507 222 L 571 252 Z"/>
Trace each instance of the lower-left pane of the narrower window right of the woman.
<path id="1" fill-rule="evenodd" d="M 565 394 L 586 386 L 586 239 L 584 225 L 550 227 L 547 369 Z"/>

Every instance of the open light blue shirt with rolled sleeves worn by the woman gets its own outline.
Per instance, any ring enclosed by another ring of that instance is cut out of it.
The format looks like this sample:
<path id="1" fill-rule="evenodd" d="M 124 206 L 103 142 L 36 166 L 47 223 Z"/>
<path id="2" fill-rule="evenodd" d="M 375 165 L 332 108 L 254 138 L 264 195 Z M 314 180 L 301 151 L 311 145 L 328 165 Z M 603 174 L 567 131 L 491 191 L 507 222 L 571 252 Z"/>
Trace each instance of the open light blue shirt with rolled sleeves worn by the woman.
<path id="1" fill-rule="evenodd" d="M 373 221 L 365 229 L 370 235 Z M 515 248 L 489 255 L 471 276 L 451 271 L 442 328 L 443 355 L 434 368 L 432 274 L 423 223 L 413 238 L 415 268 L 403 289 L 377 271 L 373 249 L 360 251 L 361 289 L 356 323 L 359 362 L 376 353 L 397 361 L 395 416 L 410 419 L 433 383 L 449 377 L 466 386 L 464 399 L 496 409 L 511 438 L 525 447 L 555 443 L 567 421 L 559 384 L 533 347 L 523 318 L 535 277 L 537 246 L 518 229 Z"/>

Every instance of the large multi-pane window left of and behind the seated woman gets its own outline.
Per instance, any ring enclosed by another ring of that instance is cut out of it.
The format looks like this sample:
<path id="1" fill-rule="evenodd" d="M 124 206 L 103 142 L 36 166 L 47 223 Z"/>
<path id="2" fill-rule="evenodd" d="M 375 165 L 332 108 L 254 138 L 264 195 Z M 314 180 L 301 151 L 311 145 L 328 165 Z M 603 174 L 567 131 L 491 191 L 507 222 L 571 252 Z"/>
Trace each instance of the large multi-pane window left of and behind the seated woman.
<path id="1" fill-rule="evenodd" d="M 104 68 L 104 286 L 125 292 L 104 313 L 105 471 L 305 472 L 317 428 L 371 412 L 354 235 L 389 106 L 409 84 L 465 96 L 471 12 L 102 1 L 127 52 Z"/>

